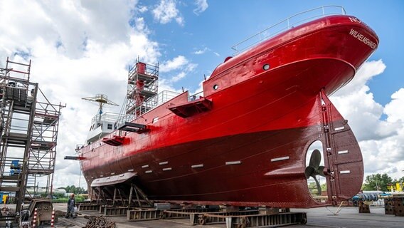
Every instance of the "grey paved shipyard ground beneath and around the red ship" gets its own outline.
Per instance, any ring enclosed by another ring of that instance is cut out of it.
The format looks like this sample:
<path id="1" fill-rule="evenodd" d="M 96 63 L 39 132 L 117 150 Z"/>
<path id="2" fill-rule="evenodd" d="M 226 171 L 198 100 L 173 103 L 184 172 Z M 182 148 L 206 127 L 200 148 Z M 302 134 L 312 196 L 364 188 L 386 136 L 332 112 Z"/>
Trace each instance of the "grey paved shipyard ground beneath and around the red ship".
<path id="1" fill-rule="evenodd" d="M 55 209 L 65 211 L 65 204 L 54 204 Z M 342 207 L 338 215 L 334 215 L 336 207 L 320 207 L 313 209 L 291 209 L 292 212 L 307 212 L 307 224 L 290 225 L 288 227 L 404 227 L 404 217 L 384 214 L 384 207 L 371 207 L 371 214 L 359 214 L 357 207 Z M 97 215 L 97 212 L 83 212 L 76 219 L 65 219 L 59 217 L 55 227 L 78 228 L 85 227 L 87 219 L 84 215 Z M 191 226 L 189 219 L 161 219 L 144 222 L 129 222 L 126 217 L 109 217 L 116 222 L 117 228 L 158 228 L 158 227 L 179 227 L 179 228 L 218 228 L 225 227 L 225 224 L 209 224 Z"/>

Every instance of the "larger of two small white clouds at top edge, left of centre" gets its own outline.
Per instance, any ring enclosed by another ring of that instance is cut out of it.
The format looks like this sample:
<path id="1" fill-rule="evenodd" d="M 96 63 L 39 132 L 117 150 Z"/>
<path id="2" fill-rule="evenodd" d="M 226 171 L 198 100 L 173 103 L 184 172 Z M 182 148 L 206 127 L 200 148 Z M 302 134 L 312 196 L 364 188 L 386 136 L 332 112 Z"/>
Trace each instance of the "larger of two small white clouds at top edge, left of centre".
<path id="1" fill-rule="evenodd" d="M 179 10 L 176 9 L 176 1 L 174 0 L 161 0 L 160 4 L 151 12 L 154 19 L 161 24 L 167 24 L 174 19 L 179 25 L 184 25 L 184 18 L 179 13 Z"/>

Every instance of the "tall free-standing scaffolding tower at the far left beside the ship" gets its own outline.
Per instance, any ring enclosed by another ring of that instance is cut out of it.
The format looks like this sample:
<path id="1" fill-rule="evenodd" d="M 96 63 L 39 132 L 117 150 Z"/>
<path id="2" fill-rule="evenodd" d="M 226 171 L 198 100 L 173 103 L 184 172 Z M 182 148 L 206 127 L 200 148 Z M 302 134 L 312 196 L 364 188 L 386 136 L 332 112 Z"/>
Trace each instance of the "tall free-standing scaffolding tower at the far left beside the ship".
<path id="1" fill-rule="evenodd" d="M 7 58 L 0 68 L 0 192 L 14 195 L 16 210 L 26 197 L 51 197 L 60 110 L 30 82 L 31 61 Z M 41 98 L 41 101 L 38 100 Z M 43 100 L 42 100 L 43 99 Z M 41 182 L 41 185 L 39 183 Z"/>

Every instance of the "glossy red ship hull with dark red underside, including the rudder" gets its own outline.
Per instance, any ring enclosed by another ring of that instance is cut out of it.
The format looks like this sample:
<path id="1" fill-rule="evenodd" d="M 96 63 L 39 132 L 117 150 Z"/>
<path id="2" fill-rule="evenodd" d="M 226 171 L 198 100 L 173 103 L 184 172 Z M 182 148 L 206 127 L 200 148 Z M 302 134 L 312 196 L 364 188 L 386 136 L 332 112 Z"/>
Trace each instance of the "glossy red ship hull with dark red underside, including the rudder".
<path id="1" fill-rule="evenodd" d="M 176 115 L 171 110 L 190 103 L 183 93 L 134 120 L 149 130 L 128 133 L 123 145 L 83 147 L 85 179 L 92 185 L 134 172 L 123 192 L 133 182 L 149 199 L 166 202 L 318 207 L 324 203 L 310 195 L 304 170 L 309 145 L 319 140 L 325 204 L 349 199 L 363 181 L 361 151 L 326 95 L 348 83 L 377 44 L 376 34 L 350 16 L 281 33 L 216 68 L 203 83 L 211 110 Z"/>

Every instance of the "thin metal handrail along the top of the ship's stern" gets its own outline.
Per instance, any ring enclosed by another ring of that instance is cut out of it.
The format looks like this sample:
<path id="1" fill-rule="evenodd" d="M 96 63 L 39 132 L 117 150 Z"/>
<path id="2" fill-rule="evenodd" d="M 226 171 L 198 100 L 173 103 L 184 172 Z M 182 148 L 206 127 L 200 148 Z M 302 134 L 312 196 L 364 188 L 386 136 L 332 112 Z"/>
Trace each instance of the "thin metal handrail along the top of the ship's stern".
<path id="1" fill-rule="evenodd" d="M 339 10 L 341 10 L 341 13 L 337 13 L 336 11 L 335 12 L 326 11 L 331 8 L 339 9 Z M 311 15 L 311 16 L 305 17 L 304 19 L 299 19 L 299 21 L 294 21 L 294 22 L 292 21 L 292 19 L 296 19 L 297 16 L 308 14 L 310 12 L 317 11 L 319 9 L 321 9 L 321 14 L 316 14 L 314 16 Z M 329 15 L 346 15 L 346 11 L 345 11 L 344 7 L 342 7 L 342 6 L 330 5 L 330 6 L 320 6 L 320 7 L 314 8 L 314 9 L 309 9 L 307 11 L 302 11 L 300 13 L 294 14 L 292 16 L 289 16 L 287 19 L 284 19 L 284 20 L 278 22 L 277 24 L 274 24 L 268 28 L 265 28 L 264 30 L 256 33 L 255 35 L 245 38 L 243 41 L 241 41 L 239 43 L 236 43 L 234 46 L 231 47 L 233 49 L 233 51 L 235 51 L 233 53 L 233 56 L 238 55 L 239 53 L 245 51 L 246 49 L 250 48 L 251 46 L 253 46 L 257 43 L 260 43 L 261 41 L 264 41 L 270 37 L 273 37 L 273 36 L 281 33 L 282 31 L 287 31 L 288 29 L 293 28 L 294 26 L 303 24 L 305 21 L 309 21 L 312 19 L 317 19 L 320 17 L 329 16 Z M 286 24 L 286 25 L 281 28 L 276 28 L 277 26 L 282 26 L 283 24 Z M 271 32 L 270 29 L 272 29 L 272 28 L 274 28 L 275 31 Z M 258 41 L 255 41 L 255 38 L 258 38 Z M 254 41 L 252 41 L 252 39 L 254 39 Z"/>

